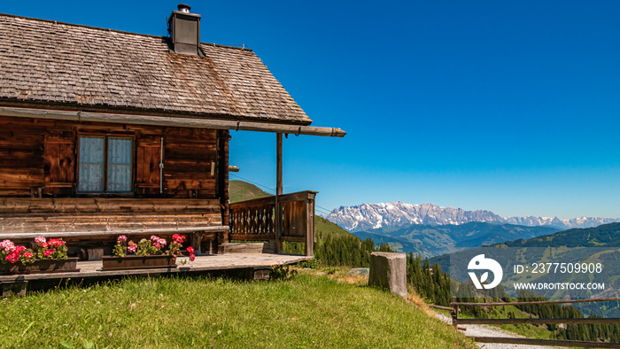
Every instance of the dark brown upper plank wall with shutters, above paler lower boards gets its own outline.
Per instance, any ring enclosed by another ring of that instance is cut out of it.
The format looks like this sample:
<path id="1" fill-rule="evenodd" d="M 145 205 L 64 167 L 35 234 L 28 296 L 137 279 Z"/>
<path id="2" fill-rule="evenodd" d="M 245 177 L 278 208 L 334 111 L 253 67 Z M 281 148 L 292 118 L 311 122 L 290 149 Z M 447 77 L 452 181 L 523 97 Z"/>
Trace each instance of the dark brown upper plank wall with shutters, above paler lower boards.
<path id="1" fill-rule="evenodd" d="M 80 134 L 136 139 L 136 195 L 228 202 L 228 130 L 75 123 L 0 116 L 0 197 L 74 196 Z M 164 137 L 164 192 L 159 194 Z M 213 171 L 212 171 L 213 168 Z M 218 174 L 221 177 L 218 178 Z M 43 192 L 36 192 L 43 188 Z M 222 212 L 228 224 L 228 210 Z"/>

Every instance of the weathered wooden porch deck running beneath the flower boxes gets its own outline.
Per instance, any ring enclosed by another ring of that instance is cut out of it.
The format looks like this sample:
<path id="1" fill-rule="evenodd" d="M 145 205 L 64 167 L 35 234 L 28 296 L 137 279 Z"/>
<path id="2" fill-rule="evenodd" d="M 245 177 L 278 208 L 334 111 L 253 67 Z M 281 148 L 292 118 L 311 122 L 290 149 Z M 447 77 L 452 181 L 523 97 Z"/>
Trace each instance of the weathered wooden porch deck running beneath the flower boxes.
<path id="1" fill-rule="evenodd" d="M 189 257 L 177 258 L 177 268 L 152 268 L 152 269 L 130 269 L 130 270 L 110 270 L 102 271 L 101 260 L 79 261 L 75 273 L 49 273 L 49 274 L 27 274 L 27 275 L 0 275 L 0 286 L 29 283 L 37 281 L 53 281 L 61 279 L 89 279 L 107 278 L 124 275 L 174 275 L 174 274 L 200 274 L 205 272 L 217 272 L 227 270 L 248 270 L 255 271 L 267 269 L 278 265 L 290 265 L 304 260 L 312 260 L 313 257 L 275 254 L 275 253 L 227 253 L 197 256 L 196 260 L 190 261 Z M 180 261 L 187 260 L 187 264 L 182 265 Z M 4 287 L 2 287 L 4 293 Z"/>

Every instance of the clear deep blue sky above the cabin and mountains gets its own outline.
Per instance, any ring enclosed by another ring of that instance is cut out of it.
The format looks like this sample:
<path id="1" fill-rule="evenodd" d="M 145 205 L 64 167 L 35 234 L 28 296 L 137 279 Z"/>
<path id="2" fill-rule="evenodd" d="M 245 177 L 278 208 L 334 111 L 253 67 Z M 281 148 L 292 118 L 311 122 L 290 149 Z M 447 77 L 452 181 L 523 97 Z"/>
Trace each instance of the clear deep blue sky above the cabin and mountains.
<path id="1" fill-rule="evenodd" d="M 0 12 L 167 35 L 177 3 L 37 0 Z M 190 5 L 203 42 L 245 44 L 314 126 L 348 132 L 285 139 L 285 192 L 318 190 L 327 209 L 399 200 L 620 217 L 620 2 Z M 232 136 L 237 175 L 275 187 L 275 135 Z"/>

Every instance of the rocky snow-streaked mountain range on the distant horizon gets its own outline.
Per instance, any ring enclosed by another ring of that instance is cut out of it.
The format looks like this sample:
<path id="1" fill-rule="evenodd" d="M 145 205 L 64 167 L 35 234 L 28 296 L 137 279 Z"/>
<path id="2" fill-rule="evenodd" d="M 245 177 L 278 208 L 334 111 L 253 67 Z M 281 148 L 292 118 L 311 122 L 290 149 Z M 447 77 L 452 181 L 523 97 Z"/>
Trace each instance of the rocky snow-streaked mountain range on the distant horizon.
<path id="1" fill-rule="evenodd" d="M 361 204 L 359 206 L 340 206 L 327 216 L 340 227 L 349 231 L 380 228 L 396 228 L 407 224 L 462 224 L 469 221 L 489 223 L 509 223 L 524 226 L 551 226 L 560 229 L 589 228 L 601 224 L 620 221 L 620 218 L 582 217 L 561 220 L 557 217 L 500 217 L 490 211 L 465 211 L 461 208 L 441 207 L 430 203 L 411 205 L 400 201 L 387 204 Z"/>

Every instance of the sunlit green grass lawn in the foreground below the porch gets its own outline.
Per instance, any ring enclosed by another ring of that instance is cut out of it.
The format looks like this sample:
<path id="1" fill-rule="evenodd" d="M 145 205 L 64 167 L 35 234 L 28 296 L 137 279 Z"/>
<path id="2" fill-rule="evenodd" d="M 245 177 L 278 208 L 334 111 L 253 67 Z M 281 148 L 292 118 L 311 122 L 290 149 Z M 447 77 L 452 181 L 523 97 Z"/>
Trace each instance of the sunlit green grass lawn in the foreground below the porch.
<path id="1" fill-rule="evenodd" d="M 473 347 L 404 299 L 318 275 L 126 279 L 0 305 L 1 347 Z"/>

